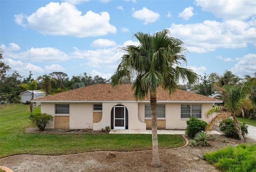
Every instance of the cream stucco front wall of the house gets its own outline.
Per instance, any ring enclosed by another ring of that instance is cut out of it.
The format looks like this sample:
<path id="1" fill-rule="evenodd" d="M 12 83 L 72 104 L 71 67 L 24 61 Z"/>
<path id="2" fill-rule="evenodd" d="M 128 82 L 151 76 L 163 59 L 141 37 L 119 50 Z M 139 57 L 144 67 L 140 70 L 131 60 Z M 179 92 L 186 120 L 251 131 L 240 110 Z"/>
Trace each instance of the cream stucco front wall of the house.
<path id="1" fill-rule="evenodd" d="M 60 104 L 60 103 L 58 103 Z M 64 103 L 67 104 L 67 103 Z M 150 118 L 145 118 L 145 103 L 142 102 L 126 102 L 126 103 L 102 103 L 102 112 L 93 112 L 93 103 L 69 103 L 70 114 L 55 114 L 54 103 L 41 103 L 41 113 L 51 114 L 53 116 L 69 116 L 70 129 L 89 128 L 93 130 L 101 130 L 111 125 L 111 110 L 118 104 L 124 105 L 128 110 L 128 129 L 129 130 L 146 130 L 149 129 Z M 149 103 L 146 103 L 149 104 Z M 159 128 L 166 129 L 186 129 L 186 120 L 188 118 L 180 118 L 181 103 L 158 103 L 166 105 L 166 118 L 158 118 Z M 191 103 L 185 103 L 191 104 Z M 197 103 L 198 104 L 198 103 Z M 201 103 L 202 120 L 208 122 L 204 114 L 206 110 L 212 108 L 212 103 Z M 93 115 L 94 114 L 94 115 Z M 96 119 L 97 116 L 97 119 Z M 100 120 L 101 117 L 101 120 Z M 146 124 L 147 123 L 147 124 Z M 164 126 L 165 125 L 165 126 Z M 50 122 L 46 128 L 54 128 L 54 121 Z"/>

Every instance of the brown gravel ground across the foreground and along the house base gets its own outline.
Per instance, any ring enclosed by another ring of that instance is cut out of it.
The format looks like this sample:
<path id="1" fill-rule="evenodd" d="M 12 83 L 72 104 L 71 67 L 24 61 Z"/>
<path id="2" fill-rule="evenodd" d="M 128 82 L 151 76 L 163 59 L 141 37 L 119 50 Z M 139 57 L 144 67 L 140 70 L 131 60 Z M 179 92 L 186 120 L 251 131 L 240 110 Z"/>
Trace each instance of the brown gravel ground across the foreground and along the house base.
<path id="1" fill-rule="evenodd" d="M 28 130 L 33 132 L 33 129 Z M 48 133 L 56 132 L 67 133 L 67 130 L 48 131 Z M 93 131 L 69 131 L 70 134 L 76 132 Z M 218 172 L 214 166 L 202 159 L 202 154 L 224 146 L 240 144 L 240 140 L 232 138 L 227 138 L 228 142 L 222 143 L 224 137 L 218 135 L 218 141 L 210 140 L 209 147 L 185 146 L 178 149 L 159 150 L 161 166 L 158 168 L 150 165 L 152 151 L 113 152 L 115 155 L 113 158 L 107 158 L 108 151 L 64 156 L 17 155 L 1 159 L 0 166 L 8 167 L 13 172 Z M 250 139 L 246 139 L 246 142 L 256 143 Z"/>

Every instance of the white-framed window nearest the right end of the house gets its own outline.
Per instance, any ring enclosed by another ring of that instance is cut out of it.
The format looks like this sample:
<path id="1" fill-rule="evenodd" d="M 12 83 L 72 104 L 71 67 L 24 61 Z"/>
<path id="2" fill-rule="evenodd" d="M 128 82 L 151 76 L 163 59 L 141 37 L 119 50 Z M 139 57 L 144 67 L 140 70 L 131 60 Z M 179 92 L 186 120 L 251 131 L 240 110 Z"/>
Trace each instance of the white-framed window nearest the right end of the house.
<path id="1" fill-rule="evenodd" d="M 182 104 L 181 105 L 181 118 L 201 118 L 202 106 L 200 104 Z"/>

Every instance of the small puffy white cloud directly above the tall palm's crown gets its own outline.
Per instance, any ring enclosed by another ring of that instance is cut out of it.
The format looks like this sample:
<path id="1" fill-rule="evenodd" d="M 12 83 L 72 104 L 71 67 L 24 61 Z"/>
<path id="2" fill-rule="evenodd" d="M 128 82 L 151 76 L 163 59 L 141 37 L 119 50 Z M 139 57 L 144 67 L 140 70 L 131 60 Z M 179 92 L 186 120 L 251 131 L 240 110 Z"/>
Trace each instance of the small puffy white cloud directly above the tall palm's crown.
<path id="1" fill-rule="evenodd" d="M 134 8 L 132 8 L 133 14 L 132 16 L 134 18 L 137 18 L 139 20 L 144 20 L 143 24 L 148 24 L 152 22 L 156 22 L 160 14 L 157 12 L 153 12 L 152 10 L 148 10 L 148 8 L 143 7 L 142 10 L 135 11 Z"/>

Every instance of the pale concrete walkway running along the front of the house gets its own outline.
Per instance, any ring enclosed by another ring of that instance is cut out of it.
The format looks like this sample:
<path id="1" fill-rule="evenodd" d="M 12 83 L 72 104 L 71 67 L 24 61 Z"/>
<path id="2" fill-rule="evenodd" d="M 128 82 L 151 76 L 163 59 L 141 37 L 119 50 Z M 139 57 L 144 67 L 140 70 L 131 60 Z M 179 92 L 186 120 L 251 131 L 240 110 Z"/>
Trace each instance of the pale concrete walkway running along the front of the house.
<path id="1" fill-rule="evenodd" d="M 152 134 L 151 130 L 110 130 L 109 134 Z M 185 130 L 157 130 L 157 134 L 185 135 Z M 209 131 L 209 134 L 221 134 L 217 131 Z"/>

